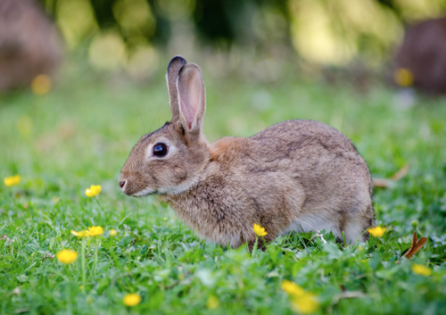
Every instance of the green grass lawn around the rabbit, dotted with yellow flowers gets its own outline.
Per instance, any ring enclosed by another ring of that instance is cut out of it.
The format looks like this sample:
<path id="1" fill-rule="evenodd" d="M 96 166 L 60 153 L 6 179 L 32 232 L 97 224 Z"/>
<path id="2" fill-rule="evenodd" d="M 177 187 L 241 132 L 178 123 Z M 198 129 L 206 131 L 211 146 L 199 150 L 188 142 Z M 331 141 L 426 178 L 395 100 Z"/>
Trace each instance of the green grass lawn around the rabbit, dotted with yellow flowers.
<path id="1" fill-rule="evenodd" d="M 204 75 L 210 141 L 249 136 L 281 120 L 321 120 L 351 137 L 374 177 L 408 162 L 405 178 L 375 192 L 376 224 L 386 234 L 360 246 L 293 234 L 254 255 L 245 246 L 207 243 L 166 204 L 118 187 L 138 138 L 169 120 L 164 74 L 138 87 L 78 70 L 49 95 L 0 98 L 0 177 L 22 178 L 16 187 L 0 185 L 0 236 L 9 239 L 0 240 L 0 313 L 291 314 L 283 279 L 316 294 L 317 313 L 446 313 L 445 99 L 421 98 L 401 110 L 384 87 L 359 95 L 297 79 L 261 85 Z M 103 191 L 88 198 L 93 184 Z M 53 257 L 64 248 L 80 253 L 70 230 L 98 225 L 105 233 L 88 240 L 80 288 L 80 257 L 67 266 Z M 427 244 L 395 264 L 414 230 Z M 414 263 L 432 275 L 415 274 Z M 123 305 L 128 293 L 142 303 Z"/>

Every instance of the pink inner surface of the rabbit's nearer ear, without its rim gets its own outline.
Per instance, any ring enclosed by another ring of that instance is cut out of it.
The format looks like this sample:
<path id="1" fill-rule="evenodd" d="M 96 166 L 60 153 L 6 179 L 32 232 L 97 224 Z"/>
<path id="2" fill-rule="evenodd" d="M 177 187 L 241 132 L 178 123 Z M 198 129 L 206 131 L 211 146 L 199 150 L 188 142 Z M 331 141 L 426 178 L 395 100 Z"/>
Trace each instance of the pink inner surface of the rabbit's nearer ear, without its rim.
<path id="1" fill-rule="evenodd" d="M 198 112 L 198 106 L 200 106 L 200 81 L 196 78 L 195 73 L 191 73 L 191 76 L 185 81 L 182 82 L 180 80 L 178 85 L 179 104 L 190 130 L 194 123 L 196 112 Z"/>

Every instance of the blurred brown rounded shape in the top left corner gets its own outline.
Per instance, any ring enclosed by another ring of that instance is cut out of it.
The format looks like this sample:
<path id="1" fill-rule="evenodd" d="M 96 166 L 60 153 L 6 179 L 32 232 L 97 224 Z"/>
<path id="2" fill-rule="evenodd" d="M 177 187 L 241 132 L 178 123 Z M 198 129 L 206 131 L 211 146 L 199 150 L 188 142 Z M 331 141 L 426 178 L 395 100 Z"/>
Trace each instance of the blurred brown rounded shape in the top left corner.
<path id="1" fill-rule="evenodd" d="M 0 91 L 53 75 L 61 58 L 59 34 L 34 1 L 0 1 Z"/>

